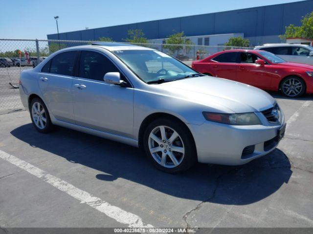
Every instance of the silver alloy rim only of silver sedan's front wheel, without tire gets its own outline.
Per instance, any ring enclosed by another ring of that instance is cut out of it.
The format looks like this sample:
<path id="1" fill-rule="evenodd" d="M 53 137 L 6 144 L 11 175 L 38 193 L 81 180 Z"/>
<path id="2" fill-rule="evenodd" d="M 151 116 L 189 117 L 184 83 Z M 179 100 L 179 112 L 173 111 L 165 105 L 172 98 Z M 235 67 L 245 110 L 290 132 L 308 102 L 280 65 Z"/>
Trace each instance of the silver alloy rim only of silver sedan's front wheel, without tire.
<path id="1" fill-rule="evenodd" d="M 185 147 L 179 134 L 167 126 L 155 127 L 149 135 L 149 150 L 158 164 L 166 168 L 179 166 Z"/>

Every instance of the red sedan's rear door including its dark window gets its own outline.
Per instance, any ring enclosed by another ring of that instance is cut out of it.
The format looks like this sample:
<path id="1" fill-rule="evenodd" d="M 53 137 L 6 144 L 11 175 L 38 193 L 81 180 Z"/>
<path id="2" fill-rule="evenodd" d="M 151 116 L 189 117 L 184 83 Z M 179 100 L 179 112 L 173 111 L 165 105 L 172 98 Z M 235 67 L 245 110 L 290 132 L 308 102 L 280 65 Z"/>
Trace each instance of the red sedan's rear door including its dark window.
<path id="1" fill-rule="evenodd" d="M 211 59 L 213 76 L 236 80 L 238 52 L 225 52 Z"/>

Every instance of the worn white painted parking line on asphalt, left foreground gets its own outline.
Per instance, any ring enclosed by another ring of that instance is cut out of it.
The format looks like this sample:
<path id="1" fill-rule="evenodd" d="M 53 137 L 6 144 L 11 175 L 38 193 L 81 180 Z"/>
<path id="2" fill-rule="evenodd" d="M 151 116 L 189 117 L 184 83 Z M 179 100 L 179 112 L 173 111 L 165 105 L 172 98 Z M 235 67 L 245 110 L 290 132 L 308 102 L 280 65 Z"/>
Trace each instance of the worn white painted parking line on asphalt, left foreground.
<path id="1" fill-rule="evenodd" d="M 0 150 L 0 158 L 18 166 L 22 170 L 36 176 L 53 187 L 65 192 L 66 194 L 76 198 L 81 203 L 86 203 L 90 207 L 100 211 L 101 213 L 115 219 L 117 222 L 127 224 L 131 228 L 152 228 L 150 224 L 144 224 L 142 219 L 130 212 L 124 211 L 119 207 L 113 206 L 108 202 L 101 200 L 99 197 L 92 196 L 91 194 L 76 188 L 74 185 L 66 181 L 52 176 L 38 167 L 23 161 L 13 155 L 7 154 Z"/>

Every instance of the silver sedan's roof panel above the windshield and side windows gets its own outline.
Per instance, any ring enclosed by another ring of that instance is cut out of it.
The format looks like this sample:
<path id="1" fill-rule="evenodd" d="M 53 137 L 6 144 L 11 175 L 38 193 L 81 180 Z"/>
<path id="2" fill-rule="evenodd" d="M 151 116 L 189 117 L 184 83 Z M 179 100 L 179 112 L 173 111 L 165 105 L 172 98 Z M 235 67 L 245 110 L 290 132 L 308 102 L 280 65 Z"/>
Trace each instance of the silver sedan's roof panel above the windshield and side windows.
<path id="1" fill-rule="evenodd" d="M 116 42 L 94 42 L 91 43 L 91 45 L 79 45 L 79 46 L 72 46 L 67 47 L 65 49 L 62 49 L 62 51 L 65 50 L 71 50 L 71 49 L 90 49 L 90 48 L 104 48 L 109 51 L 116 51 L 116 50 L 155 50 L 139 45 L 133 45 L 133 44 L 124 44 L 124 43 L 116 43 Z"/>

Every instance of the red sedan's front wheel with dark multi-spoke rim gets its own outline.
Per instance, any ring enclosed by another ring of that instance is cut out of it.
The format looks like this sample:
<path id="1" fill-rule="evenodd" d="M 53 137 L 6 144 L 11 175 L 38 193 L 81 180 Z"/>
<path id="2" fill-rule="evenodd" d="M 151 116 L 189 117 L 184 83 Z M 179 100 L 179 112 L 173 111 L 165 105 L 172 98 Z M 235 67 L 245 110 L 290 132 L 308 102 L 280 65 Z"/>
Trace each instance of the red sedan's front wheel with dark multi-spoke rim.
<path id="1" fill-rule="evenodd" d="M 290 98 L 297 98 L 305 93 L 305 83 L 301 78 L 292 76 L 285 78 L 281 84 L 282 93 Z"/>

